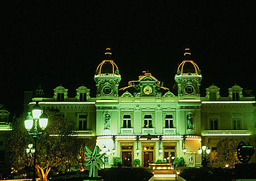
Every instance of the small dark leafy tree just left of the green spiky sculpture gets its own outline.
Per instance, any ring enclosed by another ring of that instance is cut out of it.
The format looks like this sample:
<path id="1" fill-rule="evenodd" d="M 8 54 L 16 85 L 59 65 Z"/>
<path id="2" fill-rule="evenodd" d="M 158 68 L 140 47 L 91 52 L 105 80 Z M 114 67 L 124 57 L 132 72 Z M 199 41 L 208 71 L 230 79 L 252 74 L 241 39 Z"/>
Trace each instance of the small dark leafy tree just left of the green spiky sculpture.
<path id="1" fill-rule="evenodd" d="M 77 139 L 73 156 L 75 158 L 77 166 L 79 167 L 80 172 L 86 170 L 86 146 L 90 147 L 91 149 L 94 149 L 95 145 L 95 137 Z"/>

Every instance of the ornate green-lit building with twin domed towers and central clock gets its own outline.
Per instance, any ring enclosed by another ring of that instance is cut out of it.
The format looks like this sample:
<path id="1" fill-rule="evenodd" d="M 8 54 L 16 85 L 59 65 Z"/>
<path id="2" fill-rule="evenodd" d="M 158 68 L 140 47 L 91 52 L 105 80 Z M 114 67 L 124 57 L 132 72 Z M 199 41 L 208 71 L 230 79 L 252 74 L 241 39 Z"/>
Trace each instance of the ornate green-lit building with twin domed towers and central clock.
<path id="1" fill-rule="evenodd" d="M 210 164 L 218 167 L 216 145 L 222 138 L 239 137 L 255 146 L 253 97 L 244 97 L 238 85 L 229 89 L 228 97 L 221 97 L 215 85 L 201 97 L 202 74 L 189 49 L 174 78 L 178 95 L 150 72 L 119 87 L 121 72 L 110 49 L 105 54 L 94 76 L 95 98 L 84 86 L 76 89 L 75 98 L 69 98 L 67 89 L 59 86 L 53 98 L 36 97 L 30 104 L 39 101 L 41 107 L 58 108 L 76 120 L 77 135 L 95 136 L 101 150 L 111 151 L 106 164 L 112 163 L 113 156 L 120 157 L 126 167 L 132 167 L 134 159 L 148 167 L 158 159 L 170 163 L 175 157 L 184 157 L 189 167 L 195 167 L 201 165 L 197 150 L 205 144 L 211 149 Z"/>

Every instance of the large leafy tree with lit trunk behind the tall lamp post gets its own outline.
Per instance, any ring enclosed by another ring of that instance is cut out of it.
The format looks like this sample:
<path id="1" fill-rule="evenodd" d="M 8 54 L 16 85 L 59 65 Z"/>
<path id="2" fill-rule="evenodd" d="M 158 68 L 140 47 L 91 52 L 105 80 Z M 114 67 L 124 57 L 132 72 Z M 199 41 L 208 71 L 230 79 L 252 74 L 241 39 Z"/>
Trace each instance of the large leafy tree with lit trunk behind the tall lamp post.
<path id="1" fill-rule="evenodd" d="M 73 121 L 62 116 L 56 109 L 45 110 L 49 116 L 45 132 L 37 139 L 36 171 L 43 181 L 47 181 L 49 171 L 68 168 L 73 160 L 72 153 L 77 137 L 73 134 Z M 15 119 L 8 134 L 7 153 L 9 164 L 16 170 L 33 166 L 33 149 L 29 148 L 34 141 L 25 129 L 24 117 Z M 40 129 L 40 128 L 39 128 Z M 29 150 L 29 152 L 27 152 Z"/>

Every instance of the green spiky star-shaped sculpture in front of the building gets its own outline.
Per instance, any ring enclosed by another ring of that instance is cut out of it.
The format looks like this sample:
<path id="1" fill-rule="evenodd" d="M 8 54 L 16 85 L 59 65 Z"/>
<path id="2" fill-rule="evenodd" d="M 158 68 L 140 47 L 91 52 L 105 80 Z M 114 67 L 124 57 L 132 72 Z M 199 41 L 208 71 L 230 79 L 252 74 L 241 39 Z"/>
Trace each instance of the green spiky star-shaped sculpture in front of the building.
<path id="1" fill-rule="evenodd" d="M 84 158 L 84 160 L 88 161 L 86 167 L 90 166 L 89 177 L 96 177 L 98 176 L 99 165 L 104 164 L 102 157 L 105 153 L 99 154 L 98 146 L 94 147 L 93 152 L 88 146 L 86 146 L 86 151 L 86 158 Z"/>

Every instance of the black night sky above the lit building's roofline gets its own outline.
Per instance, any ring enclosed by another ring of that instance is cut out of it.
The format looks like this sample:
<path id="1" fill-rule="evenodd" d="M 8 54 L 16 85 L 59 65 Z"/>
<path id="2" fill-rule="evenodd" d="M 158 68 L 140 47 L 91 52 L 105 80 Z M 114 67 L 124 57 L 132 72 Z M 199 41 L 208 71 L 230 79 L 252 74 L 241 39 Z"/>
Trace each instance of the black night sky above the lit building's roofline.
<path id="1" fill-rule="evenodd" d="M 69 97 L 82 84 L 95 97 L 93 77 L 109 39 L 120 87 L 148 69 L 172 88 L 189 47 L 202 71 L 202 96 L 212 83 L 221 88 L 221 96 L 235 83 L 255 89 L 253 1 L 121 2 L 2 4 L 0 103 L 19 114 L 24 90 L 39 84 L 47 97 L 60 84 Z"/>

